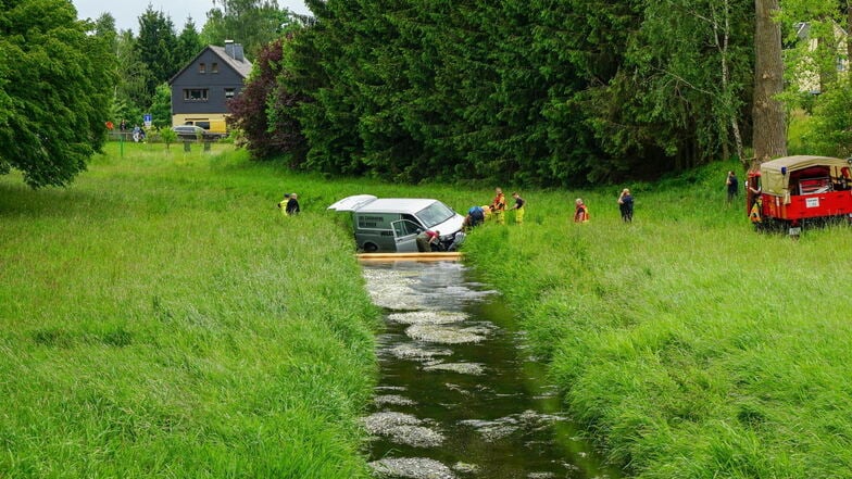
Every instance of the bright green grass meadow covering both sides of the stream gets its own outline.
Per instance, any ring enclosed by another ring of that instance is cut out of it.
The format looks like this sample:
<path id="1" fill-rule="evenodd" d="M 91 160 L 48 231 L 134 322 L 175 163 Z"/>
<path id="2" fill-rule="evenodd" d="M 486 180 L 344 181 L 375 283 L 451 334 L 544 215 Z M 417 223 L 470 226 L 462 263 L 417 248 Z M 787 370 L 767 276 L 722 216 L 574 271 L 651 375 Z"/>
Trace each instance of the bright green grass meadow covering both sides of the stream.
<path id="1" fill-rule="evenodd" d="M 852 477 L 852 231 L 755 234 L 725 204 L 736 167 L 521 191 L 525 223 L 475 229 L 467 262 L 629 475 Z M 368 477 L 378 312 L 325 210 L 358 193 L 466 211 L 493 187 L 330 180 L 227 146 L 112 143 L 68 189 L 0 177 L 2 476 Z"/>

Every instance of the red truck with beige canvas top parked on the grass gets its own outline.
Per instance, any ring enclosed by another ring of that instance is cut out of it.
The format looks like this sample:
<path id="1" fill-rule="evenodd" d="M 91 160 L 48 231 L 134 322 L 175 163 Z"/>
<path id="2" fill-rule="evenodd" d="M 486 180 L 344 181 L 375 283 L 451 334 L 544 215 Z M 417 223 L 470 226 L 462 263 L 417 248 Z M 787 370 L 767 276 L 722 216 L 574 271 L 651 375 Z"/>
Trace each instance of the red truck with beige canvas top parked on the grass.
<path id="1" fill-rule="evenodd" d="M 852 159 L 785 156 L 760 165 L 746 180 L 746 207 L 757 229 L 852 220 Z"/>

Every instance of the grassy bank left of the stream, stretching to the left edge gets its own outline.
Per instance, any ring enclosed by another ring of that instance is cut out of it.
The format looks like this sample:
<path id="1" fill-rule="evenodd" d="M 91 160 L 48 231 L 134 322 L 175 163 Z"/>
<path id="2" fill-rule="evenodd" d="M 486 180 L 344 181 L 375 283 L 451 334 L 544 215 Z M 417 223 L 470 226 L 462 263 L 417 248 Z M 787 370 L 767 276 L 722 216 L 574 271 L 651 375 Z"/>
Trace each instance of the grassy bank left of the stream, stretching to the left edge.
<path id="1" fill-rule="evenodd" d="M 367 477 L 347 232 L 281 217 L 273 165 L 124 148 L 67 190 L 0 176 L 0 476 Z"/>

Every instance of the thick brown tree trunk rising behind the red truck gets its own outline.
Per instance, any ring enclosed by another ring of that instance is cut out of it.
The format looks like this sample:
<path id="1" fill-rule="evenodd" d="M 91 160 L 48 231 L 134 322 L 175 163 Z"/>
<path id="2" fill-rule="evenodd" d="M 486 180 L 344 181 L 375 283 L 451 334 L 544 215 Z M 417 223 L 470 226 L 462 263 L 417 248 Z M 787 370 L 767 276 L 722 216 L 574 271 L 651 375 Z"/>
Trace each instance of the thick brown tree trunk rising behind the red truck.
<path id="1" fill-rule="evenodd" d="M 775 98 L 784 90 L 781 27 L 773 20 L 778 0 L 754 0 L 754 157 L 751 168 L 787 155 L 784 106 Z"/>

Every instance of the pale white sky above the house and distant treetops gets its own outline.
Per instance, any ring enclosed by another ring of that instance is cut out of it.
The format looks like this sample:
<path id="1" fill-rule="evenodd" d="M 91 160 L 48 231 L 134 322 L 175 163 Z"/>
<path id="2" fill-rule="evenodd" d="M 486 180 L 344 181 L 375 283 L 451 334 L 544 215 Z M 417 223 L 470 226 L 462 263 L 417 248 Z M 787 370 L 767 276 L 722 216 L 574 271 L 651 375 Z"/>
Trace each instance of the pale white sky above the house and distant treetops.
<path id="1" fill-rule="evenodd" d="M 163 11 L 172 17 L 175 30 L 184 29 L 187 16 L 192 15 L 196 28 L 201 31 L 206 21 L 208 10 L 213 8 L 213 0 L 72 0 L 77 9 L 78 18 L 96 20 L 104 12 L 112 13 L 115 17 L 115 28 L 118 30 L 139 30 L 139 16 L 148 9 L 150 3 L 155 11 Z M 289 9 L 293 13 L 310 15 L 311 11 L 302 0 L 278 0 L 278 7 Z"/>

